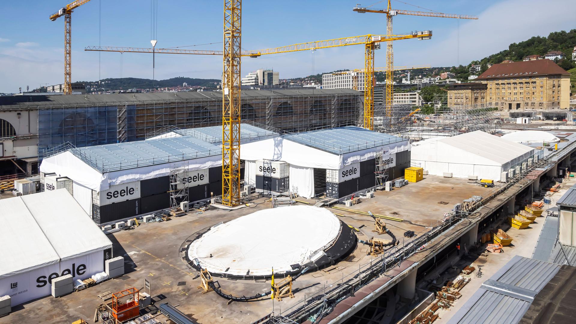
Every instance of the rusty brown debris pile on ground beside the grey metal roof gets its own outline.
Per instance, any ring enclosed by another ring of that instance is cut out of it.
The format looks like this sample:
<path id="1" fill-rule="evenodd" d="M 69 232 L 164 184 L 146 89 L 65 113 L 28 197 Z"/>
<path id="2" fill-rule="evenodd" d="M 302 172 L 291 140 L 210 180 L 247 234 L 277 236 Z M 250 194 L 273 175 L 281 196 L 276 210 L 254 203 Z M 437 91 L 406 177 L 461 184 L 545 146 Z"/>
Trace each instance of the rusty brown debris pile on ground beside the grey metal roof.
<path id="1" fill-rule="evenodd" d="M 425 308 L 420 314 L 418 314 L 410 324 L 430 324 L 434 323 L 439 318 L 436 311 L 440 308 L 446 310 L 452 306 L 452 304 L 459 299 L 462 295 L 460 290 L 470 281 L 470 276 L 472 272 L 476 270 L 473 266 L 467 266 L 462 270 L 462 273 L 456 277 L 453 281 L 446 281 L 444 287 L 436 292 L 436 299 L 434 302 L 430 303 L 428 307 Z"/>

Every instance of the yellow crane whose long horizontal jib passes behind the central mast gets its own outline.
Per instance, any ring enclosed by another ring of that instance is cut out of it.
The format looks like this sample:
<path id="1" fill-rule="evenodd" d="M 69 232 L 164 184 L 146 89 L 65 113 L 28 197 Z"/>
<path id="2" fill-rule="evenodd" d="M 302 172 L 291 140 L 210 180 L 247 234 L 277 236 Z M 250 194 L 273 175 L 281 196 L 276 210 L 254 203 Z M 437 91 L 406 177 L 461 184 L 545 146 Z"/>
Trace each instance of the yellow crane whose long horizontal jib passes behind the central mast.
<path id="1" fill-rule="evenodd" d="M 268 54 L 281 54 L 286 52 L 297 52 L 306 50 L 319 50 L 320 48 L 331 48 L 340 46 L 351 45 L 364 45 L 364 127 L 369 130 L 374 130 L 374 50 L 379 46 L 380 42 L 392 42 L 394 40 L 402 39 L 430 39 L 432 36 L 431 31 L 426 32 L 412 32 L 407 35 L 360 35 L 352 37 L 342 37 L 328 40 L 317 40 L 315 42 L 291 44 L 288 46 L 266 48 L 264 50 L 255 51 L 238 51 L 239 56 L 258 57 Z M 89 46 L 85 48 L 86 51 L 105 51 L 105 52 L 139 52 L 139 53 L 152 53 L 152 48 L 132 48 L 132 47 L 97 47 Z M 172 49 L 156 49 L 157 53 L 163 54 L 199 54 L 199 55 L 222 55 L 222 51 L 199 51 L 199 50 L 172 50 Z M 226 61 L 225 61 L 226 62 Z M 367 67 L 367 68 L 366 68 Z M 238 82 L 240 79 L 238 79 Z M 223 86 L 224 88 L 224 86 Z"/>

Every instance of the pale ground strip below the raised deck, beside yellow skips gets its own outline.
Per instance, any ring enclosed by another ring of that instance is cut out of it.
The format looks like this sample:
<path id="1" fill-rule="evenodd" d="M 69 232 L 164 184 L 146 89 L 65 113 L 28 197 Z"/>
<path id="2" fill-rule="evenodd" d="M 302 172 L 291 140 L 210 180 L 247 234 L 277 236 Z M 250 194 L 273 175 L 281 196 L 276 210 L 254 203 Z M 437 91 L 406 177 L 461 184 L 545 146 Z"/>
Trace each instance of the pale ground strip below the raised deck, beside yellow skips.
<path id="1" fill-rule="evenodd" d="M 564 179 L 562 183 L 562 188 L 554 193 L 551 198 L 551 204 L 544 205 L 544 209 L 548 209 L 556 206 L 556 201 L 571 187 L 576 183 L 575 178 Z M 471 281 L 468 282 L 461 289 L 461 297 L 457 299 L 456 302 L 448 309 L 439 308 L 437 314 L 439 318 L 434 322 L 434 324 L 444 324 L 448 323 L 450 318 L 468 301 L 468 299 L 480 288 L 484 281 L 488 280 L 494 273 L 502 268 L 514 255 L 520 255 L 521 257 L 531 258 L 532 252 L 536 246 L 538 236 L 544 225 L 546 212 L 543 212 L 544 217 L 537 217 L 536 220 L 529 225 L 526 229 L 517 229 L 510 227 L 506 221 L 499 227 L 505 229 L 506 233 L 512 236 L 513 241 L 510 246 L 505 246 L 502 249 L 502 253 L 492 254 L 488 253 L 488 257 L 484 258 L 463 258 L 454 264 L 456 270 L 450 269 L 444 272 L 438 279 L 438 282 L 444 282 L 446 280 L 454 280 L 460 270 L 467 265 L 472 265 L 476 268 L 475 272 L 471 273 Z M 492 243 L 492 240 L 487 243 Z M 481 248 L 485 248 L 486 244 L 483 244 Z M 476 256 L 476 255 L 474 255 Z M 471 262 L 472 261 L 472 262 Z M 482 277 L 476 277 L 476 272 L 478 272 L 478 266 L 482 266 Z M 427 279 L 431 279 L 428 277 Z"/>

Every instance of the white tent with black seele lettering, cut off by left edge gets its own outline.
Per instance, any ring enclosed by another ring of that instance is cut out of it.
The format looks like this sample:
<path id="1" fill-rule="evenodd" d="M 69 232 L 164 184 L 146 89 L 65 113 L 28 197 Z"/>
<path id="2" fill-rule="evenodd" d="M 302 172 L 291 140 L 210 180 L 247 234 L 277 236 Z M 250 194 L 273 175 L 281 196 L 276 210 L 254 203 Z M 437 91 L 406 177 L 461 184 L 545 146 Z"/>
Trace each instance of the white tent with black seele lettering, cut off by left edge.
<path id="1" fill-rule="evenodd" d="M 0 296 L 12 306 L 50 295 L 56 277 L 102 272 L 112 248 L 66 189 L 0 199 L 0 221 Z"/>

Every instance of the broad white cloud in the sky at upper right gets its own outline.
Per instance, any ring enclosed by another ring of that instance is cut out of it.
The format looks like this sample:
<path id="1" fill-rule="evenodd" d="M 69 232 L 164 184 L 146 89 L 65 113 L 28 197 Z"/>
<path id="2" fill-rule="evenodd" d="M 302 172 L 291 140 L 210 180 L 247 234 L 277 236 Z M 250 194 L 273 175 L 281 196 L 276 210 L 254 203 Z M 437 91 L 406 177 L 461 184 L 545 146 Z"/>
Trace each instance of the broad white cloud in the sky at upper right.
<path id="1" fill-rule="evenodd" d="M 575 27 L 576 1 L 557 0 L 554 6 L 558 10 L 535 11 L 541 5 L 541 0 L 495 2 L 479 14 L 478 20 L 460 20 L 459 31 L 457 23 L 454 23 L 454 30 L 448 35 L 437 33 L 431 41 L 426 41 L 430 45 L 423 46 L 422 51 L 395 52 L 395 56 L 401 54 L 403 61 L 430 63 L 432 66 L 467 65 L 506 50 L 511 43 Z M 435 42 L 438 38 L 441 41 Z"/>

